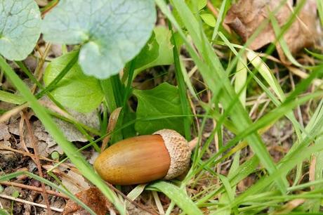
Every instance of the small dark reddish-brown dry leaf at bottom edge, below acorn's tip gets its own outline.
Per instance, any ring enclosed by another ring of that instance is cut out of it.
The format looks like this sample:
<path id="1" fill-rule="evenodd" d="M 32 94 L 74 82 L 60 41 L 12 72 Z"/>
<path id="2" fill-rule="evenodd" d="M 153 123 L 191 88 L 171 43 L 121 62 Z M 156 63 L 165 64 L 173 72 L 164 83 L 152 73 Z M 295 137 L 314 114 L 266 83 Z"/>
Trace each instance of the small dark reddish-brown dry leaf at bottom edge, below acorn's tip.
<path id="1" fill-rule="evenodd" d="M 109 208 L 112 207 L 112 204 L 110 204 L 110 202 L 98 188 L 89 188 L 88 190 L 83 190 L 75 194 L 75 196 L 98 215 L 107 214 L 109 212 Z M 83 209 L 83 207 L 79 206 L 79 204 L 73 202 L 72 200 L 68 200 L 63 214 L 68 215 L 89 213 Z"/>

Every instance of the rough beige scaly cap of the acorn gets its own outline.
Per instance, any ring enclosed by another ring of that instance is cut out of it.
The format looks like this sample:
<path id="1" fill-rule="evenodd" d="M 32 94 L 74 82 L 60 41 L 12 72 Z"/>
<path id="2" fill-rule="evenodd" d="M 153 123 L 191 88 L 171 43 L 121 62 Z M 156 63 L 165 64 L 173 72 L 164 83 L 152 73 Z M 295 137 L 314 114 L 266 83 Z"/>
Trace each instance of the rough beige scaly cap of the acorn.
<path id="1" fill-rule="evenodd" d="M 164 179 L 169 180 L 183 174 L 190 166 L 191 157 L 191 150 L 185 138 L 170 129 L 162 129 L 154 134 L 162 136 L 171 157 L 171 165 Z"/>

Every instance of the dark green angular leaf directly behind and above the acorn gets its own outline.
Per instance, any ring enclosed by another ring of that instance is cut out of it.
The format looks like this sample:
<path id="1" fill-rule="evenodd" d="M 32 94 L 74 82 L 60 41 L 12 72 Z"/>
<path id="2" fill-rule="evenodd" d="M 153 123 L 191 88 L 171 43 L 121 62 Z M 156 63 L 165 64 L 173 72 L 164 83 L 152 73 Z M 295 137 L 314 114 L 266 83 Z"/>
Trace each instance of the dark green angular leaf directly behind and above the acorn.
<path id="1" fill-rule="evenodd" d="M 135 124 L 136 131 L 151 134 L 160 129 L 173 129 L 184 133 L 183 117 L 175 117 L 183 115 L 176 86 L 163 83 L 151 90 L 135 90 L 133 94 L 138 98 L 136 118 L 141 119 Z"/>

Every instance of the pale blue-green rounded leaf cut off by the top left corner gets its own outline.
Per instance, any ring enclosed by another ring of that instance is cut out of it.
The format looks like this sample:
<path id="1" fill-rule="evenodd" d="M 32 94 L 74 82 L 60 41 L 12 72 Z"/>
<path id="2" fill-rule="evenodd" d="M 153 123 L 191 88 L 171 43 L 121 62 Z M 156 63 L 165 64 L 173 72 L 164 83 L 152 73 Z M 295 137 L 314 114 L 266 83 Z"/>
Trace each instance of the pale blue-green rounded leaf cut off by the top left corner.
<path id="1" fill-rule="evenodd" d="M 0 54 L 24 60 L 39 39 L 41 15 L 34 0 L 2 0 L 0 4 Z"/>

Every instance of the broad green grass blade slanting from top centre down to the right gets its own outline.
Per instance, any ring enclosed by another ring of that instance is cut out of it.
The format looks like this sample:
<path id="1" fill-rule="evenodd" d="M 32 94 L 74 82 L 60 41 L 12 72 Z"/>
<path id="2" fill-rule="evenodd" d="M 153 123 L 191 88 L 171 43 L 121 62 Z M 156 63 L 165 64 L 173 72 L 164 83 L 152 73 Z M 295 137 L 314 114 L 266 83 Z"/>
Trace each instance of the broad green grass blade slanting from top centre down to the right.
<path id="1" fill-rule="evenodd" d="M 160 0 L 156 0 L 156 2 L 157 5 L 162 9 L 163 13 L 168 10 L 163 8 L 164 6 L 162 4 L 164 4 L 164 2 Z M 185 27 L 187 28 L 188 32 L 190 32 L 190 36 L 195 42 L 195 46 L 206 62 L 202 63 L 202 60 L 200 60 L 200 58 L 196 55 L 195 51 L 192 51 L 192 48 L 190 48 L 190 43 L 185 37 L 183 37 L 185 44 L 187 45 L 187 51 L 190 52 L 190 55 L 195 60 L 197 67 L 199 67 L 204 81 L 215 95 L 217 95 L 216 92 L 218 92 L 219 84 L 220 86 L 223 85 L 220 102 L 223 104 L 223 107 L 230 112 L 232 122 L 234 122 L 235 126 L 237 126 L 237 129 L 243 131 L 245 128 L 251 125 L 251 119 L 244 110 L 244 107 L 242 107 L 241 103 L 237 103 L 239 98 L 237 98 L 237 100 L 233 99 L 236 97 L 235 91 L 230 84 L 227 74 L 225 74 L 218 56 L 216 56 L 214 53 L 209 41 L 206 40 L 206 37 L 202 32 L 202 27 L 199 25 L 190 9 L 187 8 L 187 5 L 183 0 L 171 1 L 171 3 L 173 4 L 174 8 L 180 11 L 179 15 L 182 22 L 184 22 Z M 165 13 L 165 15 L 167 18 L 169 18 L 169 20 L 171 20 L 171 22 L 173 22 L 173 25 L 177 25 L 176 20 L 174 20 L 171 14 Z M 174 22 L 176 24 L 174 24 Z M 178 29 L 178 31 L 180 32 L 180 29 Z M 183 36 L 183 34 L 180 35 Z M 252 150 L 261 159 L 262 164 L 266 167 L 266 169 L 268 169 L 270 174 L 275 171 L 275 164 L 272 162 L 272 158 L 265 148 L 260 136 L 258 136 L 257 133 L 251 133 L 248 137 L 246 137 L 246 140 L 250 144 Z M 282 192 L 284 192 L 287 185 L 286 178 L 277 178 L 277 185 L 279 185 L 279 188 L 282 190 Z"/>

